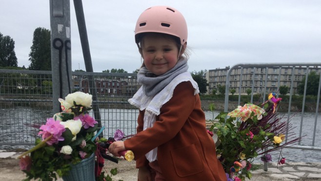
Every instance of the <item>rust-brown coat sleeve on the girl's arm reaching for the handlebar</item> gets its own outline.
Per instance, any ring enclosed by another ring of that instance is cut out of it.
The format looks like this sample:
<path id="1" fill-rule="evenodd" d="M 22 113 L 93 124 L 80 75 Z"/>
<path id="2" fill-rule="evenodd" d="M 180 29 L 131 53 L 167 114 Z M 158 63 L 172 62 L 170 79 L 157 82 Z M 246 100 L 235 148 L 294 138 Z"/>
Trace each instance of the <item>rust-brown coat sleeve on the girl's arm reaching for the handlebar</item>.
<path id="1" fill-rule="evenodd" d="M 196 97 L 191 82 L 181 82 L 174 89 L 172 98 L 161 107 L 161 114 L 153 127 L 125 140 L 126 149 L 132 150 L 135 159 L 139 159 L 150 150 L 170 141 L 181 130 L 195 103 Z"/>

